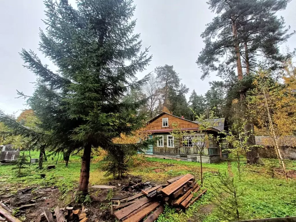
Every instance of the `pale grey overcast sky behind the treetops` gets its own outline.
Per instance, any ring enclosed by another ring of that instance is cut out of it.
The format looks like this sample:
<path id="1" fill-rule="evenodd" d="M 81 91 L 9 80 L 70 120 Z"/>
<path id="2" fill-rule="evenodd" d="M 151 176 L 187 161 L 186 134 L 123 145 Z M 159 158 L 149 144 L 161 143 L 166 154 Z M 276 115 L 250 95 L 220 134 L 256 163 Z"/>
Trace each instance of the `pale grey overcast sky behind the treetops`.
<path id="1" fill-rule="evenodd" d="M 69 0 L 75 4 L 74 0 Z M 156 66 L 173 65 L 182 78 L 182 83 L 195 89 L 197 94 L 204 94 L 209 89 L 209 81 L 217 79 L 215 74 L 204 81 L 200 80 L 201 72 L 195 63 L 204 44 L 200 34 L 205 25 L 212 20 L 214 14 L 208 9 L 205 0 L 135 0 L 137 5 L 136 33 L 141 33 L 143 47 L 150 47 L 153 54 L 147 72 L 139 74 L 139 78 Z M 23 99 L 15 99 L 17 91 L 26 95 L 33 93 L 35 76 L 22 67 L 19 52 L 22 48 L 37 52 L 39 27 L 45 26 L 44 5 L 41 0 L 0 0 L 0 109 L 7 114 L 18 115 L 25 107 Z M 288 4 L 282 15 L 291 30 L 296 29 L 296 0 Z M 296 48 L 296 35 L 282 46 Z M 38 53 L 38 52 L 37 52 Z M 40 53 L 38 56 L 44 63 Z"/>

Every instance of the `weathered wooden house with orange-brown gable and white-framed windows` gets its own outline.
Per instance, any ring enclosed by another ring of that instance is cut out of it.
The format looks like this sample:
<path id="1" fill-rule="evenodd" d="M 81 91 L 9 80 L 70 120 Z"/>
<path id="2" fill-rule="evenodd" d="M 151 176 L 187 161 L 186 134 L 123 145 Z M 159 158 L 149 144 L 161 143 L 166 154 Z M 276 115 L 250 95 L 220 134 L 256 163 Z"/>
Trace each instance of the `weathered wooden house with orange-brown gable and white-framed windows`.
<path id="1" fill-rule="evenodd" d="M 186 120 L 167 112 L 157 115 L 143 129 L 143 132 L 148 133 L 150 137 L 158 138 L 157 143 L 151 146 L 145 154 L 149 157 L 199 162 L 199 150 L 202 149 L 203 163 L 215 163 L 221 159 L 227 159 L 228 153 L 224 149 L 223 143 L 219 147 L 216 139 L 218 133 L 224 129 L 225 118 L 207 121 L 211 123 L 211 127 L 206 132 L 200 132 L 197 121 Z M 175 125 L 173 123 L 176 123 L 178 129 L 184 132 L 182 138 L 174 138 L 171 134 L 173 125 Z M 201 138 L 205 134 L 212 134 L 212 136 L 206 140 L 205 144 L 201 145 L 197 138 L 202 140 Z"/>

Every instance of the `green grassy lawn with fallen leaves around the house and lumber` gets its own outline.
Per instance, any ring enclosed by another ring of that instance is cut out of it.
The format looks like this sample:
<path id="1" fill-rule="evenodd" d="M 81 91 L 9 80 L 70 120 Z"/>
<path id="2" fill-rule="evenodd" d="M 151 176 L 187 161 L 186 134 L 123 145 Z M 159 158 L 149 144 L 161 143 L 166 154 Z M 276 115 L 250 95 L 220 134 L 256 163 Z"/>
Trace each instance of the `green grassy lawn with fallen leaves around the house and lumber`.
<path id="1" fill-rule="evenodd" d="M 31 153 L 32 158 L 38 157 L 38 152 Z M 23 169 L 23 176 L 15 176 L 13 165 L 0 165 L 0 186 L 12 186 L 15 190 L 25 186 L 57 186 L 63 194 L 72 192 L 78 185 L 80 174 L 80 157 L 71 156 L 69 166 L 65 167 L 64 161 L 59 159 L 56 168 L 46 170 L 47 165 L 54 165 L 57 157 L 44 162 L 44 169 L 38 170 L 38 164 Z M 90 183 L 108 184 L 112 177 L 104 176 L 101 170 L 104 161 L 100 157 L 94 157 L 91 163 Z M 195 202 L 186 213 L 176 213 L 173 208 L 166 207 L 158 222 L 164 221 L 222 221 L 223 216 L 218 211 L 215 204 L 215 197 L 218 195 L 213 186 L 217 186 L 217 172 L 230 170 L 234 175 L 235 181 L 239 187 L 244 190 L 244 196 L 241 197 L 242 207 L 240 214 L 242 218 L 268 218 L 296 216 L 296 179 L 289 178 L 286 182 L 282 175 L 276 173 L 275 178 L 268 174 L 268 162 L 265 159 L 265 166 L 250 166 L 242 164 L 242 178 L 238 181 L 237 164 L 231 162 L 228 169 L 227 162 L 217 164 L 203 164 L 204 187 L 207 193 L 197 202 Z M 296 161 L 286 161 L 287 169 L 290 172 L 296 170 Z M 183 162 L 174 160 L 163 160 L 156 158 L 135 158 L 134 166 L 129 172 L 133 176 L 141 176 L 143 180 L 151 181 L 157 184 L 165 182 L 185 173 L 191 173 L 195 178 L 200 178 L 200 164 L 194 162 Z M 45 178 L 41 178 L 45 174 Z M 219 183 L 218 183 L 219 184 Z M 0 190 L 1 194 L 1 190 Z"/>

